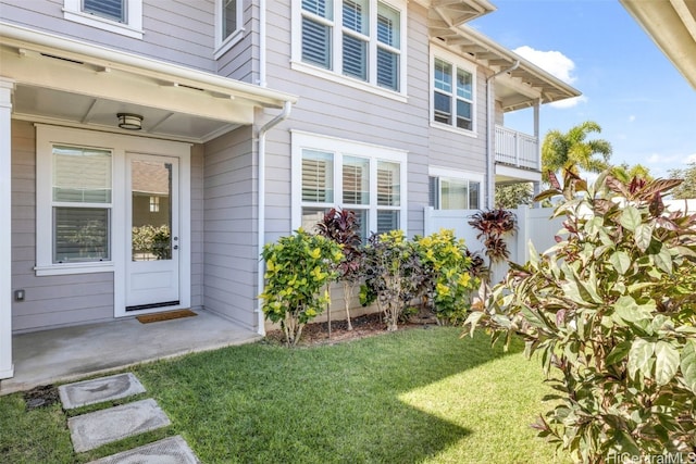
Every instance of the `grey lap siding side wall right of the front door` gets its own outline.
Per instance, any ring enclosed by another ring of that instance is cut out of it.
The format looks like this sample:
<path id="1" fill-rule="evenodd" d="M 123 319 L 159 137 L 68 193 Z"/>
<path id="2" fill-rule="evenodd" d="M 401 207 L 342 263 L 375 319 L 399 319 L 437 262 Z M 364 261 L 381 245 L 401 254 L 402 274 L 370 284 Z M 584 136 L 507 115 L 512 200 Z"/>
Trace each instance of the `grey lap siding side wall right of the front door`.
<path id="1" fill-rule="evenodd" d="M 251 127 L 206 143 L 203 156 L 203 305 L 253 329 L 256 167 Z"/>

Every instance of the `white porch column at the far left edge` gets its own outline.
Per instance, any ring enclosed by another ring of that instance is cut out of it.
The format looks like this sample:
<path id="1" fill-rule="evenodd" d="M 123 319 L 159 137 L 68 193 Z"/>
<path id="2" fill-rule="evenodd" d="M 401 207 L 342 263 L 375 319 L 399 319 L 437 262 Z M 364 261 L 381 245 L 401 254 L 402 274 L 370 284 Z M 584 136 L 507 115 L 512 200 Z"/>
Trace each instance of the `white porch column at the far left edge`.
<path id="1" fill-rule="evenodd" d="M 12 92 L 14 80 L 0 77 L 0 379 L 14 376 L 12 364 Z"/>

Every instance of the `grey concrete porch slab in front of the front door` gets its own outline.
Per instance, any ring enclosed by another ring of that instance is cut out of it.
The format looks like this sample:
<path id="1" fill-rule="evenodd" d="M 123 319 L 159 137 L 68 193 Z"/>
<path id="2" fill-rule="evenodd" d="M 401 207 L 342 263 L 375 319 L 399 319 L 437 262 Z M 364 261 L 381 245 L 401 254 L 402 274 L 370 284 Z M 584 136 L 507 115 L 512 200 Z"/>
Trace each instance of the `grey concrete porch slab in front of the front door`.
<path id="1" fill-rule="evenodd" d="M 260 339 L 215 314 L 141 324 L 135 318 L 15 335 L 14 377 L 0 394 Z"/>

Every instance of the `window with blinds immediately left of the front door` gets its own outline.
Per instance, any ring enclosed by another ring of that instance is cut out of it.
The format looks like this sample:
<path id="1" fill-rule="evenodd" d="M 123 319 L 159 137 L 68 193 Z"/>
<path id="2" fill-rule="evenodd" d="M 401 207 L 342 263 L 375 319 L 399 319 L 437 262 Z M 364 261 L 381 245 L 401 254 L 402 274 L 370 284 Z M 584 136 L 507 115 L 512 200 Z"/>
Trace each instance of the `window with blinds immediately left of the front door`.
<path id="1" fill-rule="evenodd" d="M 110 260 L 111 152 L 54 146 L 52 163 L 53 263 Z"/>

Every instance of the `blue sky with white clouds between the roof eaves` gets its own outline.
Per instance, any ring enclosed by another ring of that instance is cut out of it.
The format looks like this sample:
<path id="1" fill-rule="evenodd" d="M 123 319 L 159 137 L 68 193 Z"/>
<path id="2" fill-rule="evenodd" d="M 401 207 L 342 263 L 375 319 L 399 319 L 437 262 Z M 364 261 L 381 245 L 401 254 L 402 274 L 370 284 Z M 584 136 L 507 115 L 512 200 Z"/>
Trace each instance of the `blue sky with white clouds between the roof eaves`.
<path id="1" fill-rule="evenodd" d="M 598 123 L 611 162 L 643 164 L 655 177 L 696 162 L 696 90 L 616 0 L 493 0 L 469 23 L 583 92 L 566 108 L 543 105 L 540 130 Z M 531 111 L 506 126 L 533 133 Z"/>

